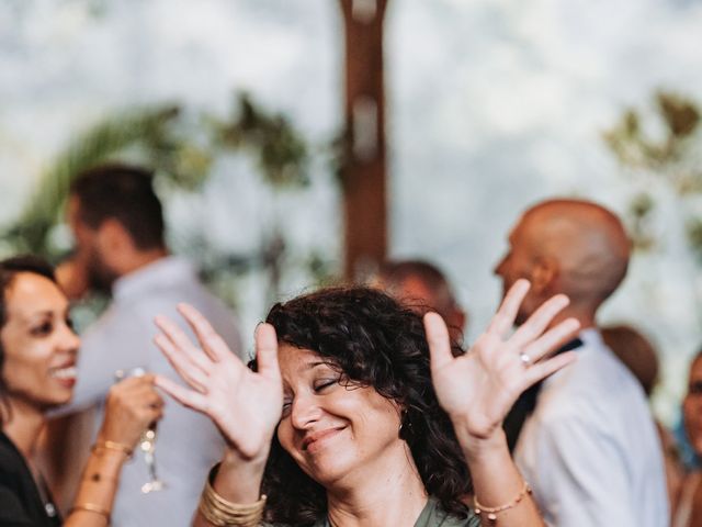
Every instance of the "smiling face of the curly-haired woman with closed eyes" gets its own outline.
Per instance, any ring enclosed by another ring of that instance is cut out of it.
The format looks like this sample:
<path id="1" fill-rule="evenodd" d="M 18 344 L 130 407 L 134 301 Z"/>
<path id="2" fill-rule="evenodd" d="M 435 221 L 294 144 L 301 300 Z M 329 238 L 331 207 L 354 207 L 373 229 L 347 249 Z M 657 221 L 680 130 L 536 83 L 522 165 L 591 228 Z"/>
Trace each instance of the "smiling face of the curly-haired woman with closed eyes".
<path id="1" fill-rule="evenodd" d="M 314 351 L 282 345 L 279 357 L 285 400 L 278 439 L 312 479 L 327 489 L 353 484 L 407 460 L 396 403 L 344 382 Z"/>

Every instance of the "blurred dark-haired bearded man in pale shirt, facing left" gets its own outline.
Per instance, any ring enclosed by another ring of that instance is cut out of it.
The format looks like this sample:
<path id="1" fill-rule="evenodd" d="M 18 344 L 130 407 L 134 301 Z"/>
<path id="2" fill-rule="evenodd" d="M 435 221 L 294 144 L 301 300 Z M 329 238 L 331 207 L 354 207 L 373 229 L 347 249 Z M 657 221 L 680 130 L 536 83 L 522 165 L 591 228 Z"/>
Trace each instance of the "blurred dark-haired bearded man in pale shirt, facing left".
<path id="1" fill-rule="evenodd" d="M 76 250 L 59 268 L 59 281 L 73 295 L 87 290 L 112 294 L 109 309 L 83 335 L 69 411 L 100 408 L 117 371 L 141 368 L 168 374 L 169 366 L 151 341 L 151 321 L 159 313 L 174 313 L 178 302 L 202 310 L 240 352 L 229 311 L 202 285 L 189 261 L 168 253 L 151 172 L 105 165 L 80 175 L 70 189 L 68 222 Z M 188 525 L 200 481 L 223 448 L 220 434 L 207 418 L 178 405 L 167 408 L 156 441 L 156 466 L 166 487 L 145 495 L 141 486 L 149 474 L 144 459 L 135 459 L 121 479 L 113 524 Z"/>

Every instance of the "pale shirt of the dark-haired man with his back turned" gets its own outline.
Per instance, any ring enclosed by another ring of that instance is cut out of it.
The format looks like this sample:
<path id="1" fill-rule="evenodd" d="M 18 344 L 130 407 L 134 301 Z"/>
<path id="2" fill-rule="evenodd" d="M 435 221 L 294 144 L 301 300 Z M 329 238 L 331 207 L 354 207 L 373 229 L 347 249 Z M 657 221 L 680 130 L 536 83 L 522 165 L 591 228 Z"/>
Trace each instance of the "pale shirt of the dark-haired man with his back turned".
<path id="1" fill-rule="evenodd" d="M 179 302 L 200 310 L 230 348 L 240 354 L 239 335 L 228 310 L 204 289 L 185 260 L 166 257 L 115 282 L 112 304 L 82 336 L 70 407 L 102 404 L 116 370 L 143 367 L 177 379 L 152 338 L 158 333 L 154 325 L 158 314 L 186 328 L 176 312 Z M 188 333 L 192 336 L 192 332 Z M 102 417 L 101 411 L 98 425 Z M 207 471 L 222 456 L 224 440 L 210 419 L 172 400 L 166 401 L 157 430 L 156 468 L 168 486 L 150 494 L 140 492 L 148 472 L 143 453 L 135 451 L 120 476 L 112 512 L 115 527 L 190 525 Z"/>

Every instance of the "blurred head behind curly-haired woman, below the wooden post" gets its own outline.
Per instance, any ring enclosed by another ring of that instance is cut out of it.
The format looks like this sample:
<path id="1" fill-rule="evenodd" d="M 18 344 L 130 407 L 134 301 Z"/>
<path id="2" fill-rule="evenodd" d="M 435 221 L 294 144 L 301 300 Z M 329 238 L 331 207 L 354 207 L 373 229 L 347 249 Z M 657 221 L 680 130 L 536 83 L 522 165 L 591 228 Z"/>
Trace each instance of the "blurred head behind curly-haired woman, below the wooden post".
<path id="1" fill-rule="evenodd" d="M 451 338 L 463 340 L 466 313 L 456 301 L 449 279 L 437 266 L 423 260 L 386 261 L 372 284 L 420 314 L 435 311 L 449 326 Z"/>

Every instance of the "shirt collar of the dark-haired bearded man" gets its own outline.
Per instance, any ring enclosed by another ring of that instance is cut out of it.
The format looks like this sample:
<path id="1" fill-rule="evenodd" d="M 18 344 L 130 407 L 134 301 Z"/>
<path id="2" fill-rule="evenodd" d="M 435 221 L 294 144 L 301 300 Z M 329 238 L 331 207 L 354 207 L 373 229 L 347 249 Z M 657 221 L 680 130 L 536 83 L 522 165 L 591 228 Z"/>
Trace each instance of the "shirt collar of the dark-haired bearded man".
<path id="1" fill-rule="evenodd" d="M 188 260 L 167 256 L 118 278 L 114 282 L 112 294 L 115 302 L 120 302 L 140 296 L 154 288 L 181 285 L 185 281 L 195 280 L 195 269 Z"/>

